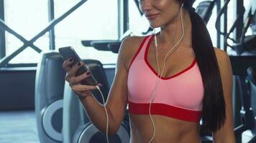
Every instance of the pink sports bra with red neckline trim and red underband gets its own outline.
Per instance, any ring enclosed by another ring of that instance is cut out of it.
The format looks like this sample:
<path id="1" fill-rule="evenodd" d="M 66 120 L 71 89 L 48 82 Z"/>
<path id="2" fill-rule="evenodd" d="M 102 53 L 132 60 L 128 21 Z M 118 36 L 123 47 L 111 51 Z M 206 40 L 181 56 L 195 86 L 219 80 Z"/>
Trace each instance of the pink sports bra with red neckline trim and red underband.
<path id="1" fill-rule="evenodd" d="M 127 79 L 129 112 L 149 114 L 150 99 L 157 82 L 157 71 L 147 61 L 153 36 L 146 36 L 129 66 Z M 196 59 L 188 68 L 172 77 L 160 77 L 151 104 L 151 114 L 163 115 L 188 122 L 201 119 L 204 85 Z"/>

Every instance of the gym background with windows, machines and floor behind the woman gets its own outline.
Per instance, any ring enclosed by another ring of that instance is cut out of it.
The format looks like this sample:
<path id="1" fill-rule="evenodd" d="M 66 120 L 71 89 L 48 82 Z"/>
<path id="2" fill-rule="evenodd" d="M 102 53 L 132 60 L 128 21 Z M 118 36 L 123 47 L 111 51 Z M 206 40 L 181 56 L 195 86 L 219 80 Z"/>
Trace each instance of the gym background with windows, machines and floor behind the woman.
<path id="1" fill-rule="evenodd" d="M 214 47 L 229 54 L 236 142 L 256 143 L 256 2 L 196 0 L 193 7 Z M 106 142 L 65 82 L 58 49 L 71 46 L 95 67 L 106 100 L 122 40 L 150 34 L 138 0 L 0 0 L 0 143 Z M 109 140 L 129 137 L 127 113 Z M 212 142 L 211 132 L 200 137 Z"/>

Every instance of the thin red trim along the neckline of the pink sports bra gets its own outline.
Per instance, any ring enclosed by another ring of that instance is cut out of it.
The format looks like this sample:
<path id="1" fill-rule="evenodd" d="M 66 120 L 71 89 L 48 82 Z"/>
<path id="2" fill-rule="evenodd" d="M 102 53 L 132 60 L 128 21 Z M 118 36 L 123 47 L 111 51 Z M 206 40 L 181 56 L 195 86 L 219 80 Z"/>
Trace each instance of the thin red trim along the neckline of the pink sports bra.
<path id="1" fill-rule="evenodd" d="M 154 36 L 152 36 L 154 37 Z M 149 48 L 150 48 L 150 43 L 152 41 L 152 37 L 150 37 L 150 41 L 147 43 L 147 47 L 146 47 L 146 50 L 145 50 L 145 54 L 144 54 L 144 60 L 147 64 L 147 66 L 153 71 L 153 73 L 157 76 L 157 71 L 155 71 L 155 69 L 150 65 L 150 62 L 147 61 L 147 54 L 148 54 L 148 51 L 149 51 Z M 183 69 L 182 71 L 179 71 L 177 74 L 174 74 L 173 76 L 171 77 L 160 77 L 160 79 L 164 79 L 164 80 L 167 80 L 167 79 L 172 79 L 173 77 L 178 77 L 178 75 L 180 74 L 183 74 L 184 72 L 188 71 L 189 69 L 191 69 L 194 65 L 196 64 L 196 57 L 195 59 L 193 59 L 192 63 L 190 66 L 188 66 L 186 69 Z"/>

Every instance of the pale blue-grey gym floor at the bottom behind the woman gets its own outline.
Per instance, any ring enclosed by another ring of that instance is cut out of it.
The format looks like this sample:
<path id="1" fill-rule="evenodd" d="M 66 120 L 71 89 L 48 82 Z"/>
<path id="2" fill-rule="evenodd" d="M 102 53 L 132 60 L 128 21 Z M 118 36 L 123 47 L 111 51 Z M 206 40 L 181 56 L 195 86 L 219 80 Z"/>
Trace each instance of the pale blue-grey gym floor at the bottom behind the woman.
<path id="1" fill-rule="evenodd" d="M 252 135 L 244 132 L 242 143 Z M 40 143 L 37 137 L 35 111 L 0 111 L 0 143 Z"/>

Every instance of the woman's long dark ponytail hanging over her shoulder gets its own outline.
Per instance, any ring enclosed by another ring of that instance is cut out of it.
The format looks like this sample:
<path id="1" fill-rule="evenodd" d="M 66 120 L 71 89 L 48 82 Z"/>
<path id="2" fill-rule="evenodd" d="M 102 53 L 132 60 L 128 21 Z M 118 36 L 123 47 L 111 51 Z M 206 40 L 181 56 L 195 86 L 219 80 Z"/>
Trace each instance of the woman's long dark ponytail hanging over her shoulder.
<path id="1" fill-rule="evenodd" d="M 202 125 L 205 129 L 216 132 L 225 122 L 226 111 L 214 46 L 204 20 L 192 9 L 193 2 L 191 0 L 181 1 L 191 17 L 192 46 L 204 84 Z"/>

